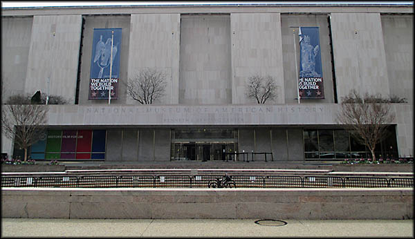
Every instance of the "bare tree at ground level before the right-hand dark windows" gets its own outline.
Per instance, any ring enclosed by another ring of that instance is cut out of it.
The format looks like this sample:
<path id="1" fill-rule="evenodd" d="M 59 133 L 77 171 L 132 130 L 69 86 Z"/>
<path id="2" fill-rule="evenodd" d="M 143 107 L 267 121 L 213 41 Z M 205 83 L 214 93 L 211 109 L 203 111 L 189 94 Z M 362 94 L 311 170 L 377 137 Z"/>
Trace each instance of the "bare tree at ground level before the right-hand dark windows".
<path id="1" fill-rule="evenodd" d="M 336 120 L 350 129 L 352 136 L 367 146 L 373 160 L 376 160 L 375 146 L 387 137 L 387 126 L 394 119 L 388 99 L 367 93 L 361 97 L 356 90 L 351 90 L 342 99 Z"/>

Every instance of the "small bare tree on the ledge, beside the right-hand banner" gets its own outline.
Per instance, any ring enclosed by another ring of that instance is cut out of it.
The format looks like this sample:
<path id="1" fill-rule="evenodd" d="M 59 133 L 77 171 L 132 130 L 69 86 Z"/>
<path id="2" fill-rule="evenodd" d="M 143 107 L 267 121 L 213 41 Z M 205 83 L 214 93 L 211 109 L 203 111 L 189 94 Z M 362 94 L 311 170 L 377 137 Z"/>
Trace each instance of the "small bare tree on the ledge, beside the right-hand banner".
<path id="1" fill-rule="evenodd" d="M 277 97 L 275 79 L 270 75 L 266 77 L 252 75 L 248 78 L 246 96 L 251 99 L 256 99 L 258 104 L 265 104 L 268 99 L 275 99 Z"/>

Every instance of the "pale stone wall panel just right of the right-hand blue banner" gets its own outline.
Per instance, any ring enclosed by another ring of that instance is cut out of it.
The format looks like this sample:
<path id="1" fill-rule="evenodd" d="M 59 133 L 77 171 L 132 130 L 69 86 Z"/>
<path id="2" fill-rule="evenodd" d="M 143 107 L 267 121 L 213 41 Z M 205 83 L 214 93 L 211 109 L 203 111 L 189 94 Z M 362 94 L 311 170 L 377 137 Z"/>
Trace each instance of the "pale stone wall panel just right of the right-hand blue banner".
<path id="1" fill-rule="evenodd" d="M 332 13 L 331 32 L 339 102 L 351 89 L 389 95 L 379 13 Z"/>

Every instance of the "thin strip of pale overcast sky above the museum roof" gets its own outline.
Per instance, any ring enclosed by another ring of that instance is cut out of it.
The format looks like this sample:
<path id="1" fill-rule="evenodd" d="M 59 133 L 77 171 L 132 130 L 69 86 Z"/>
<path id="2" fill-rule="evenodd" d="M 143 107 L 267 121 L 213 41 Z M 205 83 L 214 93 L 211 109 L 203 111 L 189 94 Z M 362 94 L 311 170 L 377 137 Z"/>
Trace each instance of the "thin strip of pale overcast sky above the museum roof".
<path id="1" fill-rule="evenodd" d="M 189 4 L 413 4 L 414 1 L 1 1 L 1 8 L 39 6 L 121 6 L 121 5 L 189 5 Z"/>

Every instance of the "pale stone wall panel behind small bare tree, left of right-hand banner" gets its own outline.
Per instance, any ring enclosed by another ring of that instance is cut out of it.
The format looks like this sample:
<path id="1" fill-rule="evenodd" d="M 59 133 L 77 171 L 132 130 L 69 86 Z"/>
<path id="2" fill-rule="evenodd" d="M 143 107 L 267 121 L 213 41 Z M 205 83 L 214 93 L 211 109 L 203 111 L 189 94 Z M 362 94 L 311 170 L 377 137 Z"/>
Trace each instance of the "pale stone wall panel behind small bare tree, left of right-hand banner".
<path id="1" fill-rule="evenodd" d="M 232 104 L 256 103 L 245 95 L 248 77 L 271 75 L 277 97 L 266 104 L 284 104 L 281 19 L 279 13 L 232 13 Z"/>

